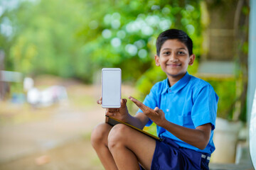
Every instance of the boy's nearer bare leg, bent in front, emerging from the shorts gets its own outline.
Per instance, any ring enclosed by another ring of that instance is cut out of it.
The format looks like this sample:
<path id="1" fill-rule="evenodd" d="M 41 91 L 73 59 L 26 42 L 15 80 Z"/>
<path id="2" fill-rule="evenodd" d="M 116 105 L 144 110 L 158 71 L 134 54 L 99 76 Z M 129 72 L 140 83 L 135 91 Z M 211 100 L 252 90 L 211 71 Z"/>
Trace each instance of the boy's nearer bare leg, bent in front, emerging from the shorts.
<path id="1" fill-rule="evenodd" d="M 139 169 L 139 163 L 150 169 L 156 141 L 127 125 L 118 124 L 110 130 L 108 147 L 118 169 Z"/>

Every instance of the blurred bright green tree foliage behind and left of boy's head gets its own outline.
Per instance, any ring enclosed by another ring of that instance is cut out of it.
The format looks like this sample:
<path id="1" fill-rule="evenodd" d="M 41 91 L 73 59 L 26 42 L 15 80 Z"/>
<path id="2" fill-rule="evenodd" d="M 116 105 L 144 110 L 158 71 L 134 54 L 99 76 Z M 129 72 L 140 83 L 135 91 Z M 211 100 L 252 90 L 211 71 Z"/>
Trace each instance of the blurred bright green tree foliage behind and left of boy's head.
<path id="1" fill-rule="evenodd" d="M 14 30 L 0 33 L 6 69 L 92 82 L 102 67 L 120 67 L 124 81 L 137 81 L 154 70 L 155 41 L 163 30 L 185 30 L 200 54 L 198 2 L 20 1 L 0 16 L 0 23 L 8 18 Z"/>

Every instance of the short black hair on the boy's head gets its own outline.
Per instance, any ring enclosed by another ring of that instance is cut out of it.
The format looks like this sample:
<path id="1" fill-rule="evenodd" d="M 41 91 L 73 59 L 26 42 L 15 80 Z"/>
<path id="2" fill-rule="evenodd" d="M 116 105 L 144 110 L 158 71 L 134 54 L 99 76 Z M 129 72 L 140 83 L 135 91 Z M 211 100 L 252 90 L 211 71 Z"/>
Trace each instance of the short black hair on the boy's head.
<path id="1" fill-rule="evenodd" d="M 156 54 L 160 55 L 161 46 L 166 42 L 166 40 L 177 39 L 180 42 L 183 42 L 188 48 L 188 54 L 193 54 L 193 42 L 191 38 L 183 30 L 169 29 L 159 34 L 159 37 L 156 40 Z"/>

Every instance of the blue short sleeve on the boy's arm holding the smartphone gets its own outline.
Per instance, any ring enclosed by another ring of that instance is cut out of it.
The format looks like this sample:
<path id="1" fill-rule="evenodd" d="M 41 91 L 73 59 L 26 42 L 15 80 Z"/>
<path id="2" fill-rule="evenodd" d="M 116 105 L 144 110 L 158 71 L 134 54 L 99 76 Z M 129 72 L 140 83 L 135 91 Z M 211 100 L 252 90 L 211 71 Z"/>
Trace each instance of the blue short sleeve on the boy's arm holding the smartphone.
<path id="1" fill-rule="evenodd" d="M 146 95 L 146 98 L 144 99 L 143 103 L 145 106 L 148 106 L 149 108 L 156 108 L 157 106 L 157 95 L 156 95 L 156 91 L 157 91 L 157 84 L 155 84 L 151 90 L 150 93 L 148 95 Z M 139 108 L 139 111 L 137 111 L 137 113 L 143 113 L 143 111 Z M 146 123 L 146 126 L 150 126 L 153 123 L 153 121 L 149 118 L 149 122 Z"/>

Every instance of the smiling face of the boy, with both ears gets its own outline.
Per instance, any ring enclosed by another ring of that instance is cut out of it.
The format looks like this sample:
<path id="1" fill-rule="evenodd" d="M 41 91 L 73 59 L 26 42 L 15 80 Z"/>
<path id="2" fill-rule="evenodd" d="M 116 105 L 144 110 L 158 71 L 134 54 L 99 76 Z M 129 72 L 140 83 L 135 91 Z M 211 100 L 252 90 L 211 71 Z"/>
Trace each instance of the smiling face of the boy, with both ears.
<path id="1" fill-rule="evenodd" d="M 167 77 L 181 79 L 187 72 L 188 64 L 193 64 L 195 55 L 189 56 L 186 45 L 174 39 L 164 42 L 155 60 L 156 66 L 161 66 Z"/>

